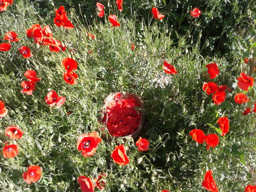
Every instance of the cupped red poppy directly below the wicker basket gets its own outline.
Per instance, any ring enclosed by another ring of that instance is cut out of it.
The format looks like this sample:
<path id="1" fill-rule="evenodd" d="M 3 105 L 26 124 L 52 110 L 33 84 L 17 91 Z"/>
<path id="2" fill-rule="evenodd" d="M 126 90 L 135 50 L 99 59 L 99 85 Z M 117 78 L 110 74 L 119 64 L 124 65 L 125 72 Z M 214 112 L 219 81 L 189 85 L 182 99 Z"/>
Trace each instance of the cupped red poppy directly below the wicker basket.
<path id="1" fill-rule="evenodd" d="M 115 149 L 111 153 L 111 158 L 113 158 L 113 160 L 117 164 L 122 165 L 122 166 L 127 165 L 128 163 L 130 163 L 129 158 L 126 155 L 126 150 L 125 150 L 124 145 L 116 146 Z"/>

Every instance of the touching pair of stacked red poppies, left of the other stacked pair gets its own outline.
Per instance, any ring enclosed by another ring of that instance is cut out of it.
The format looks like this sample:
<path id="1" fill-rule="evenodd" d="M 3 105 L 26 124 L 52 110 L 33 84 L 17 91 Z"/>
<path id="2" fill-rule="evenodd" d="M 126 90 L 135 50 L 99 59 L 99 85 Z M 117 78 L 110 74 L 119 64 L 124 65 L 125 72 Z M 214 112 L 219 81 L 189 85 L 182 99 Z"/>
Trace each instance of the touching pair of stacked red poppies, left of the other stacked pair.
<path id="1" fill-rule="evenodd" d="M 36 77 L 36 71 L 33 70 L 26 71 L 24 75 L 28 78 L 28 81 L 21 82 L 23 89 L 20 92 L 32 95 L 33 90 L 36 90 L 36 82 L 40 81 L 41 79 Z"/>

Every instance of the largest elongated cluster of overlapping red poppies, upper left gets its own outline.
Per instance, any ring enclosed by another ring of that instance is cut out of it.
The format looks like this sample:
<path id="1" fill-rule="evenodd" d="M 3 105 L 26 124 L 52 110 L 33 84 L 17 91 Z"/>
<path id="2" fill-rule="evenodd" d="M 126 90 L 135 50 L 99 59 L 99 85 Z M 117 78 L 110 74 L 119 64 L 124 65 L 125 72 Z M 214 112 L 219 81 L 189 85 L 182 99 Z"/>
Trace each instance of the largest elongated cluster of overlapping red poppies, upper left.
<path id="1" fill-rule="evenodd" d="M 52 52 L 65 51 L 65 45 L 62 46 L 61 42 L 52 37 L 52 31 L 49 25 L 42 28 L 39 24 L 34 24 L 30 29 L 26 30 L 28 37 L 34 38 L 35 43 L 40 45 L 47 45 Z M 42 43 L 41 43 L 42 42 Z M 30 51 L 30 50 L 29 50 Z"/>

